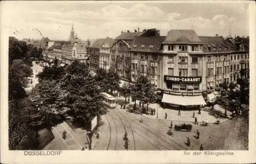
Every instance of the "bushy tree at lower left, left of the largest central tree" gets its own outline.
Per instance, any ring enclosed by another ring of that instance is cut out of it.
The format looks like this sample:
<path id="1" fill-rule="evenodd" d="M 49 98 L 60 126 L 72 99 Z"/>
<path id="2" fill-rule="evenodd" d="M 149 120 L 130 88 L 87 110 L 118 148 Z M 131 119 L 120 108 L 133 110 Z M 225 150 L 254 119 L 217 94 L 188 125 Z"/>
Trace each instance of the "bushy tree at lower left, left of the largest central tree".
<path id="1" fill-rule="evenodd" d="M 36 111 L 31 115 L 30 126 L 35 130 L 48 129 L 58 125 L 65 120 L 65 106 L 67 93 L 61 90 L 56 80 L 42 80 L 32 90 L 31 111 Z M 30 116 L 28 116 L 30 117 Z"/>

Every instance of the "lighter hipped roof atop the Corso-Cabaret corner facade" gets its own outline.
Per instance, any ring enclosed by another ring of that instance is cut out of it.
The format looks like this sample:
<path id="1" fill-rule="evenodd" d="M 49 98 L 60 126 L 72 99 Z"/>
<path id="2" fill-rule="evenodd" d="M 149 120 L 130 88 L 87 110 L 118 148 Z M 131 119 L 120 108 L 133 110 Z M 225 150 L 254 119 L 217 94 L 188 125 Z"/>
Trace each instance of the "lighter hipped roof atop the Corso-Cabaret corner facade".
<path id="1" fill-rule="evenodd" d="M 202 43 L 194 30 L 170 30 L 163 43 Z"/>

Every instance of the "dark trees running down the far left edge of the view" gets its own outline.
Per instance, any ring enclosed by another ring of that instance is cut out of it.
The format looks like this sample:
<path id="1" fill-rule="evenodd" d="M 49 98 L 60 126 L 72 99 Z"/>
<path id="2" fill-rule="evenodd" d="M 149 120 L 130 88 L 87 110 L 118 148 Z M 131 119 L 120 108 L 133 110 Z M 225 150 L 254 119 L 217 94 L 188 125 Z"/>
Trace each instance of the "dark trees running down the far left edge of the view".
<path id="1" fill-rule="evenodd" d="M 26 111 L 25 88 L 33 74 L 32 61 L 42 59 L 41 49 L 9 37 L 9 149 L 31 149 L 36 145 L 36 131 L 30 128 Z"/>

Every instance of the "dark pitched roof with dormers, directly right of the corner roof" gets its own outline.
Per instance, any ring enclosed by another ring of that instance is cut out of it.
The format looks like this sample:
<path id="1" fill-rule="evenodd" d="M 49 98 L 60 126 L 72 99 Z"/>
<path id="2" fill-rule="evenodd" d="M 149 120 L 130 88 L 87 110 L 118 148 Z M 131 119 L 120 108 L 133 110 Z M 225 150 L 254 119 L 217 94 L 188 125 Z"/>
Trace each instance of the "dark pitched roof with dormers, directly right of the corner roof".
<path id="1" fill-rule="evenodd" d="M 228 45 L 226 44 L 222 36 L 199 36 L 200 40 L 205 44 L 203 46 L 204 52 L 225 52 L 228 51 Z M 231 45 L 230 45 L 231 46 Z M 214 50 L 216 48 L 216 50 Z"/>

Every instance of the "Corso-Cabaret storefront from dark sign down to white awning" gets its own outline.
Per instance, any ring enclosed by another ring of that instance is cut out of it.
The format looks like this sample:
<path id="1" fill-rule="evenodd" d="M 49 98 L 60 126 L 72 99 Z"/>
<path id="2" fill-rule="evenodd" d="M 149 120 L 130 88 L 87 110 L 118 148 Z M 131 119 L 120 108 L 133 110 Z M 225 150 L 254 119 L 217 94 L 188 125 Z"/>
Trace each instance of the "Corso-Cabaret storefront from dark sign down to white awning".
<path id="1" fill-rule="evenodd" d="M 167 88 L 162 98 L 164 106 L 198 108 L 206 105 L 200 90 L 202 77 L 164 75 L 164 81 Z"/>

